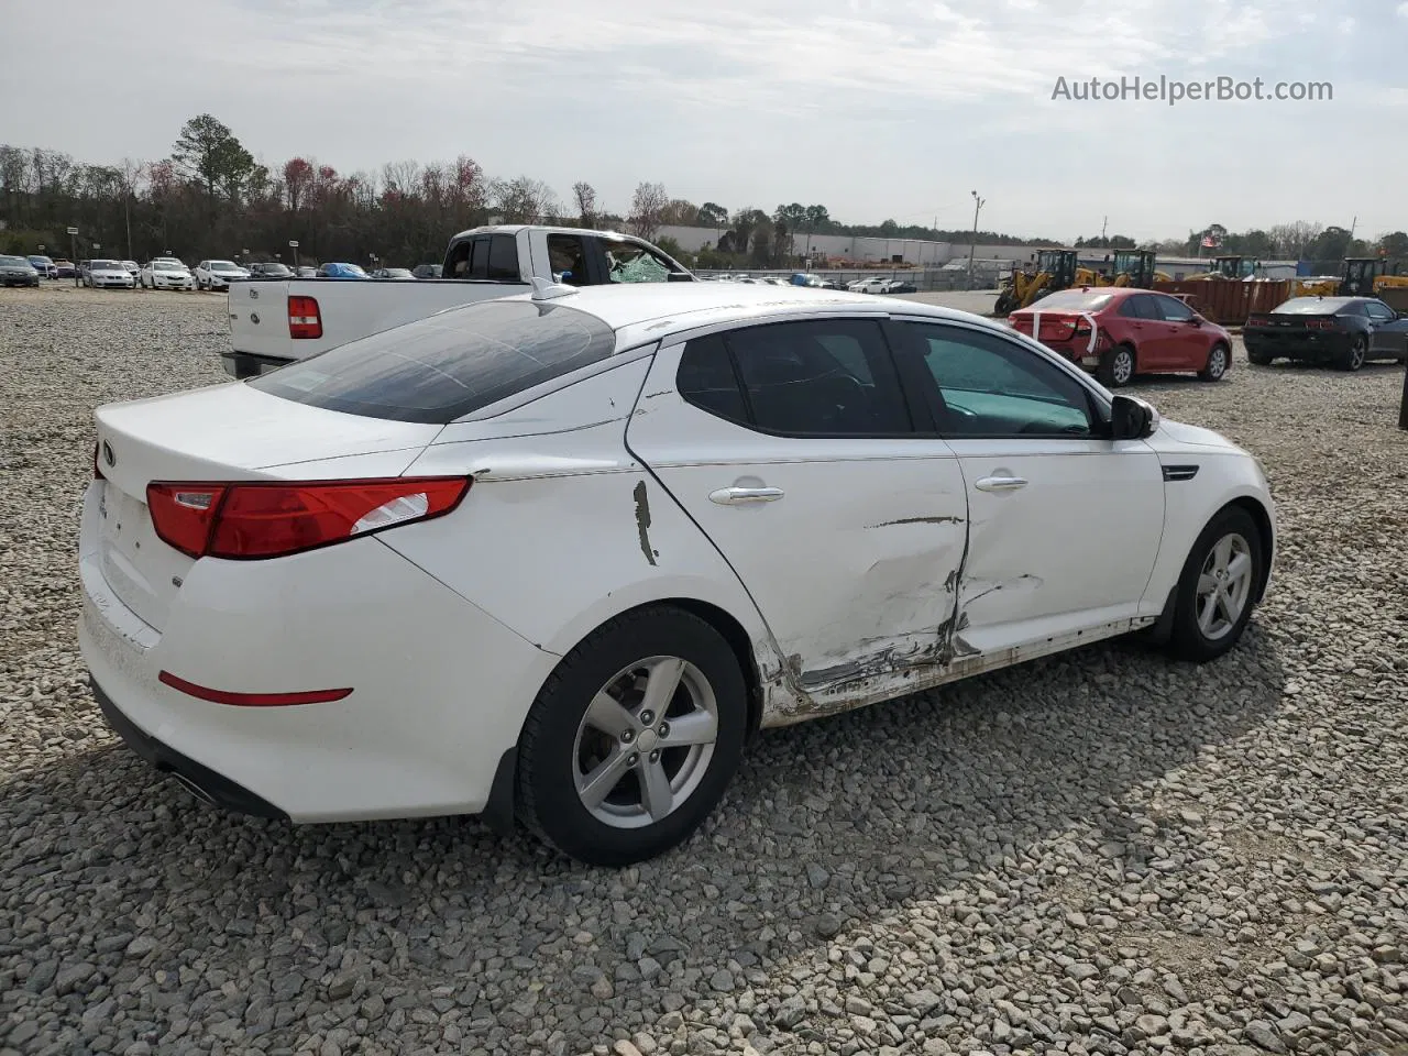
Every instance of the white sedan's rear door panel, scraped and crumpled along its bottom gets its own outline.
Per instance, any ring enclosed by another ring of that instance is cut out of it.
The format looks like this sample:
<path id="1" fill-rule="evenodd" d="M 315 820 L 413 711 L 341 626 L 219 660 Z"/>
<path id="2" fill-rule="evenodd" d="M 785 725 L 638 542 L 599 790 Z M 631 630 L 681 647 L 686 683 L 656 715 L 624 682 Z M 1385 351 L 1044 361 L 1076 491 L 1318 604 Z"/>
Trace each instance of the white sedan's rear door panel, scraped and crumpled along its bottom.
<path id="1" fill-rule="evenodd" d="M 705 391 L 705 351 L 725 387 L 734 377 L 721 339 L 691 346 L 684 380 L 684 345 L 655 356 L 627 444 L 738 573 L 812 714 L 897 696 L 946 666 L 967 538 L 950 448 L 763 432 Z"/>

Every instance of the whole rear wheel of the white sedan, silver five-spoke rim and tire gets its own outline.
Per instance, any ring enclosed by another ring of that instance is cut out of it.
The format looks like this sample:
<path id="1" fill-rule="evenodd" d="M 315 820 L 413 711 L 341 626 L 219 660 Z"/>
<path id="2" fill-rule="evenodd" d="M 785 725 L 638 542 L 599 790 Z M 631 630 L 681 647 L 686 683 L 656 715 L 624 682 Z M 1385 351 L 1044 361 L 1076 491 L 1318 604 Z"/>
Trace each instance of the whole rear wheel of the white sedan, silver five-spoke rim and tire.
<path id="1" fill-rule="evenodd" d="M 724 636 L 627 612 L 563 658 L 524 722 L 518 818 L 563 853 L 627 866 L 681 843 L 738 769 L 748 689 Z"/>

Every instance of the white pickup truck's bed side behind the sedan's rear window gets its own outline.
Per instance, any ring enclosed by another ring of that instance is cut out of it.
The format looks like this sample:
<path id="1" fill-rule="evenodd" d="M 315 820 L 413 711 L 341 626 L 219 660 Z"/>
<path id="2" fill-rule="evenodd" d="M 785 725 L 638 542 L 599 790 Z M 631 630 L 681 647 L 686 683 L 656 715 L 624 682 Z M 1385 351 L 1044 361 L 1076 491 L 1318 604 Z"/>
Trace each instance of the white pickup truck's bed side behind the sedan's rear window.
<path id="1" fill-rule="evenodd" d="M 246 377 L 445 308 L 529 289 L 525 283 L 465 279 L 255 279 L 235 283 L 230 287 L 231 351 L 222 353 L 225 370 Z M 294 303 L 300 320 L 317 317 L 320 337 L 291 337 L 291 297 L 301 298 Z"/>

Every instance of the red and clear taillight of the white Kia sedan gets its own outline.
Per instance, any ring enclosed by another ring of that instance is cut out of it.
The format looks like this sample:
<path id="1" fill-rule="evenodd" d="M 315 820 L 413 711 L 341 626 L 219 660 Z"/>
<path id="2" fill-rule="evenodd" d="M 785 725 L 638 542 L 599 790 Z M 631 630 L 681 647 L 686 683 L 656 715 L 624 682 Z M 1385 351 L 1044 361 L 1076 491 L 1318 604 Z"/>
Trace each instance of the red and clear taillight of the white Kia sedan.
<path id="1" fill-rule="evenodd" d="M 146 486 L 152 527 L 191 558 L 280 558 L 451 513 L 469 477 Z"/>

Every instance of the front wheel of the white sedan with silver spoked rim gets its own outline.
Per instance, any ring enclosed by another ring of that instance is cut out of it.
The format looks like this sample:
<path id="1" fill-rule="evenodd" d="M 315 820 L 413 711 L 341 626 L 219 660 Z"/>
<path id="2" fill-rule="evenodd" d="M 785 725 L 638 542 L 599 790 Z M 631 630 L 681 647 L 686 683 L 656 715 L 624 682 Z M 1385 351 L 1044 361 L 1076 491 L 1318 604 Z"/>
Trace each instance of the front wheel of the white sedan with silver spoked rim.
<path id="1" fill-rule="evenodd" d="M 1246 510 L 1232 505 L 1208 522 L 1178 577 L 1169 642 L 1176 656 L 1202 663 L 1238 643 L 1264 559 L 1262 534 Z"/>

